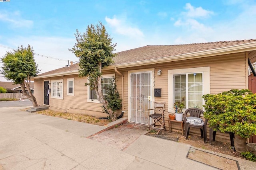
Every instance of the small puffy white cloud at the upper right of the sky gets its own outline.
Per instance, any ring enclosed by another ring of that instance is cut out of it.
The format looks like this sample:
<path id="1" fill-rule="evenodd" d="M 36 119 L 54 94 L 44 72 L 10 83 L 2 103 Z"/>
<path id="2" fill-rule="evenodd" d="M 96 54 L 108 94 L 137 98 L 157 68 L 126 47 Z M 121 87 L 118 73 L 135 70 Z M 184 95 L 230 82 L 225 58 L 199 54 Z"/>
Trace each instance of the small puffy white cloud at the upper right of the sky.
<path id="1" fill-rule="evenodd" d="M 185 9 L 187 12 L 183 12 L 183 14 L 189 18 L 207 18 L 214 14 L 214 12 L 204 10 L 202 7 L 195 8 L 190 3 L 186 3 Z"/>

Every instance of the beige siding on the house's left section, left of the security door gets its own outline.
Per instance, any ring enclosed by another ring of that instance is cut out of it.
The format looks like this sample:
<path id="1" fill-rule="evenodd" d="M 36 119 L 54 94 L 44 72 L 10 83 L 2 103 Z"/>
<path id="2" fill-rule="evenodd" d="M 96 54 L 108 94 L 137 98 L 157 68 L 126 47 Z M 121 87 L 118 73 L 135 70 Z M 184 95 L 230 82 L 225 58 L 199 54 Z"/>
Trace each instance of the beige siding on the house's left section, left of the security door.
<path id="1" fill-rule="evenodd" d="M 110 73 L 110 72 L 107 72 Z M 113 73 L 113 72 L 112 72 Z M 74 96 L 67 95 L 67 79 L 74 78 Z M 118 91 L 121 93 L 121 76 L 116 74 L 116 79 L 118 80 L 117 86 Z M 45 80 L 63 80 L 63 99 L 52 98 L 50 96 L 50 108 L 52 110 L 60 110 L 70 113 L 82 113 L 104 117 L 106 114 L 102 113 L 102 108 L 100 103 L 88 102 L 88 87 L 84 84 L 87 82 L 86 78 L 79 78 L 78 74 L 68 75 L 68 76 L 56 76 L 46 78 Z M 44 105 L 44 79 L 35 80 L 36 88 L 34 96 L 38 101 L 38 105 Z"/>

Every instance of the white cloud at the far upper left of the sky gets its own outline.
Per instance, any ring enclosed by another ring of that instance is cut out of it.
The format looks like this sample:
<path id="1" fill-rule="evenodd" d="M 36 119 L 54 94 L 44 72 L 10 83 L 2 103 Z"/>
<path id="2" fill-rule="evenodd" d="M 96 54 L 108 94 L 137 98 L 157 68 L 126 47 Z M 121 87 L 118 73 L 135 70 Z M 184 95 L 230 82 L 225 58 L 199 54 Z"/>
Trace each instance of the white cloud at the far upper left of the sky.
<path id="1" fill-rule="evenodd" d="M 14 11 L 13 13 L 10 12 L 0 12 L 0 21 L 8 22 L 14 27 L 32 27 L 33 21 L 32 20 L 24 20 L 20 16 L 19 11 Z"/>

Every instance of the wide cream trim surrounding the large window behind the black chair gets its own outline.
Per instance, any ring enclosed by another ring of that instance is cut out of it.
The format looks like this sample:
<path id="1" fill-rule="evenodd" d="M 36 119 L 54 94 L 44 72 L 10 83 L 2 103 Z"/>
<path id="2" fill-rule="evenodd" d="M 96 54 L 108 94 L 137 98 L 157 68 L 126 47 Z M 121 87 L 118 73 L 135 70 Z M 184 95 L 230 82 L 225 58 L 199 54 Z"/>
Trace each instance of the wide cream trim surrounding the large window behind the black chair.
<path id="1" fill-rule="evenodd" d="M 173 109 L 174 104 L 174 75 L 176 74 L 190 74 L 190 73 L 203 73 L 203 95 L 210 94 L 210 67 L 195 67 L 195 68 L 182 68 L 168 70 L 168 112 L 175 113 Z M 187 99 L 186 99 L 187 100 Z M 204 100 L 203 100 L 204 105 Z M 204 109 L 204 108 L 203 108 Z M 183 112 L 186 109 L 182 110 Z"/>

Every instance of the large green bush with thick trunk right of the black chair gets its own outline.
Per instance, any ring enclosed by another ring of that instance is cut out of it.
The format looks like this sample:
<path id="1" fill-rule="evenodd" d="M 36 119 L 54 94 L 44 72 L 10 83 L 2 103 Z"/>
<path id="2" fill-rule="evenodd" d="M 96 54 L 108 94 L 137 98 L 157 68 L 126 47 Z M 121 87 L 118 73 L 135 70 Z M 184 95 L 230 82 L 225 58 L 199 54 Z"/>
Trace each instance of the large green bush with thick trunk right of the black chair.
<path id="1" fill-rule="evenodd" d="M 256 134 L 256 94 L 250 90 L 233 89 L 220 94 L 206 94 L 204 117 L 209 126 L 235 134 L 236 151 L 245 152 L 246 140 Z"/>

